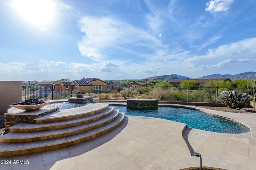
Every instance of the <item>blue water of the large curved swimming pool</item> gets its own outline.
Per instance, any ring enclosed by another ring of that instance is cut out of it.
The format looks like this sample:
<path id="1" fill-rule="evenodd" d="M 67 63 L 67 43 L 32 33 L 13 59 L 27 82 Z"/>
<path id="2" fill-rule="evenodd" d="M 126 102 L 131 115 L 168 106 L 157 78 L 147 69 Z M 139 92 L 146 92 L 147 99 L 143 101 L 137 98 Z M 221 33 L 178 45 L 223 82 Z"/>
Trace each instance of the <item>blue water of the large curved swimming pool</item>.
<path id="1" fill-rule="evenodd" d="M 175 107 L 114 106 L 125 115 L 156 117 L 186 123 L 188 127 L 219 133 L 246 133 L 249 130 L 239 123 L 214 117 L 200 111 Z"/>

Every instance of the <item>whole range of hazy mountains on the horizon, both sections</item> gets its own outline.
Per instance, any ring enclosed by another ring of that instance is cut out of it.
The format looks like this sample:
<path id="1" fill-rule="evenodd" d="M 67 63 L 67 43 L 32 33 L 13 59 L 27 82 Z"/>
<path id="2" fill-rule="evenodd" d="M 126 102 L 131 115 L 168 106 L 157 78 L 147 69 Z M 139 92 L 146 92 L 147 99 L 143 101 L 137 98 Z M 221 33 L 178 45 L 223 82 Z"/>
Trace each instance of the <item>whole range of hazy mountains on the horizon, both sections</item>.
<path id="1" fill-rule="evenodd" d="M 198 78 L 229 78 L 230 80 L 236 80 L 238 78 L 242 78 L 242 79 L 248 79 L 248 80 L 255 80 L 255 77 L 256 77 L 256 72 L 250 71 L 250 72 L 243 72 L 240 74 L 211 74 L 211 75 L 202 76 Z M 170 81 L 174 79 L 190 79 L 190 78 L 186 76 L 177 75 L 177 74 L 171 74 L 171 75 L 148 77 L 142 80 Z"/>

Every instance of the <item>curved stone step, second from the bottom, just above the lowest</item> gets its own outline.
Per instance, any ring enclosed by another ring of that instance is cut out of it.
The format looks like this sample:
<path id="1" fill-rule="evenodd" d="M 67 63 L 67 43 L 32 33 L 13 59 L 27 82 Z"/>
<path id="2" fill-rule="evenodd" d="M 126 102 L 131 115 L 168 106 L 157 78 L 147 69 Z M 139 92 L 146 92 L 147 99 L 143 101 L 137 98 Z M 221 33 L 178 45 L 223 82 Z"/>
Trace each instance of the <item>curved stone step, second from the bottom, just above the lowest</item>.
<path id="1" fill-rule="evenodd" d="M 90 123 L 86 123 L 79 126 L 50 130 L 50 131 L 41 131 L 41 132 L 32 132 L 32 133 L 7 133 L 0 137 L 0 143 L 25 143 L 25 142 L 35 142 L 35 141 L 43 141 L 48 139 L 58 139 L 62 137 L 68 137 L 72 135 L 76 135 L 79 133 L 84 133 L 86 131 L 90 131 L 92 129 L 101 127 L 110 123 L 116 117 L 118 117 L 119 110 L 114 110 L 110 115 L 99 119 L 97 121 L 92 121 Z"/>

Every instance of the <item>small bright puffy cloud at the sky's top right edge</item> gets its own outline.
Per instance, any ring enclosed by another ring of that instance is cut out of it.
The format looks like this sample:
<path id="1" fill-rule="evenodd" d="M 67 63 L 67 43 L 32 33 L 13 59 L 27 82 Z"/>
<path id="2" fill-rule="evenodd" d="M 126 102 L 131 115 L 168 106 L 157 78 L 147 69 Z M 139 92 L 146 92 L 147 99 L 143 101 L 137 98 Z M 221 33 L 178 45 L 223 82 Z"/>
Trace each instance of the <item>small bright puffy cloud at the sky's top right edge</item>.
<path id="1" fill-rule="evenodd" d="M 206 3 L 207 8 L 205 8 L 205 11 L 226 11 L 233 2 L 234 0 L 211 0 Z"/>

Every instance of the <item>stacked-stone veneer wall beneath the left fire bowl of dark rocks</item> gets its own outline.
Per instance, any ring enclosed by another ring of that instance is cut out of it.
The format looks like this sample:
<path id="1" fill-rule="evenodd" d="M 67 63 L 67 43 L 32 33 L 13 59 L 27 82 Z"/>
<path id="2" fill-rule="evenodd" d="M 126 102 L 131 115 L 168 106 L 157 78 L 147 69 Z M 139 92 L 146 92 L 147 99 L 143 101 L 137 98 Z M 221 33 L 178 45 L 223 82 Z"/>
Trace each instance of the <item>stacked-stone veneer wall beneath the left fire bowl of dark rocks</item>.
<path id="1" fill-rule="evenodd" d="M 58 111 L 59 107 L 56 107 L 54 109 L 50 109 L 48 111 L 45 111 L 39 115 L 21 115 L 21 114 L 7 114 L 4 115 L 5 121 L 4 121 L 4 130 L 5 134 L 10 132 L 9 127 L 16 125 L 18 123 L 36 123 L 36 118 L 42 117 L 43 115 L 47 115 L 49 113 L 52 113 L 54 111 Z"/>

